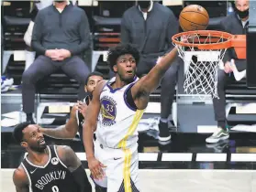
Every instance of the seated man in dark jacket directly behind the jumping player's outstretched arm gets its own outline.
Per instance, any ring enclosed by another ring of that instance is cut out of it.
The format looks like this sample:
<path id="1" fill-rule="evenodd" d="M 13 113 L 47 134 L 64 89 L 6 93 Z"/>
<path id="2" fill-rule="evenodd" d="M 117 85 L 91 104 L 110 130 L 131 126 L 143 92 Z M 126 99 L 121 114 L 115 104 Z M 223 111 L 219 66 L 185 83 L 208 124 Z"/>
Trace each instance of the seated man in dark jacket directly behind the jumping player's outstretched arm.
<path id="1" fill-rule="evenodd" d="M 123 15 L 121 22 L 122 43 L 137 45 L 141 53 L 137 75 L 149 73 L 159 57 L 173 49 L 172 37 L 178 33 L 179 24 L 172 10 L 153 1 L 138 1 Z M 168 116 L 171 114 L 177 80 L 178 62 L 174 62 L 161 80 L 161 121 L 159 140 L 169 141 L 171 134 Z M 173 123 L 173 121 L 171 121 Z"/>

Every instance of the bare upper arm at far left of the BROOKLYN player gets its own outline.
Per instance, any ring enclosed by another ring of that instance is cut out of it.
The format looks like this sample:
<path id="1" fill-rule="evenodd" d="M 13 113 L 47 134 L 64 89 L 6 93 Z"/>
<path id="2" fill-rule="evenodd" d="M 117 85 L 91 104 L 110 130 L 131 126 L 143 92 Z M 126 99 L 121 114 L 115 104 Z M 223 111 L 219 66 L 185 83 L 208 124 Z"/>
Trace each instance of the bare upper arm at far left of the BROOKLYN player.
<path id="1" fill-rule="evenodd" d="M 25 170 L 19 166 L 13 175 L 13 182 L 17 192 L 29 192 L 28 177 Z"/>

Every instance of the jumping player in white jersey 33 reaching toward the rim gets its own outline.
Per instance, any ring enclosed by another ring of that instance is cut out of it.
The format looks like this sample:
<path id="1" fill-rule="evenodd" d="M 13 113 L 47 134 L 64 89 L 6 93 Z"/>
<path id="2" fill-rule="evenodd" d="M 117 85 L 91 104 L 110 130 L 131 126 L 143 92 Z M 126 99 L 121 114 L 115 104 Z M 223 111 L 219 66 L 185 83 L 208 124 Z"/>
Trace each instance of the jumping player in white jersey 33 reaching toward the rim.
<path id="1" fill-rule="evenodd" d="M 177 49 L 173 48 L 139 80 L 135 76 L 139 50 L 129 44 L 109 50 L 108 63 L 116 77 L 98 84 L 83 124 L 88 166 L 96 181 L 107 184 L 107 192 L 139 191 L 137 125 L 150 93 L 159 86 L 176 56 Z"/>

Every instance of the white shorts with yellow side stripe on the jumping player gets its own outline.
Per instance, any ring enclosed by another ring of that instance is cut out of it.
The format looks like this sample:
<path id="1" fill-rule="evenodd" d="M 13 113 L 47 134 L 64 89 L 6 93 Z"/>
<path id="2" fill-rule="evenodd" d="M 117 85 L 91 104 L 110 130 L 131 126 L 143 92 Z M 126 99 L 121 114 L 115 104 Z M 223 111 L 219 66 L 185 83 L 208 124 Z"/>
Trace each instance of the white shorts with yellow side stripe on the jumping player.
<path id="1" fill-rule="evenodd" d="M 137 145 L 134 149 L 113 149 L 104 147 L 95 141 L 95 158 L 103 165 L 106 176 L 95 180 L 107 192 L 139 192 L 139 155 Z"/>

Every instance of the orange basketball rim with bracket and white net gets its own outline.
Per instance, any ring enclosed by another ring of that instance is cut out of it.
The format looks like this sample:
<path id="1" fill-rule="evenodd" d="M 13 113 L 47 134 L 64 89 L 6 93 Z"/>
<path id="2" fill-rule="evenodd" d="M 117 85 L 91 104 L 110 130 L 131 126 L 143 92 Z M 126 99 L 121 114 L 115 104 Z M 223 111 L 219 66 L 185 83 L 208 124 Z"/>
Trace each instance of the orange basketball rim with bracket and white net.
<path id="1" fill-rule="evenodd" d="M 217 96 L 217 71 L 228 48 L 239 59 L 246 58 L 246 36 L 215 30 L 187 31 L 172 37 L 179 57 L 184 60 L 184 91 L 205 100 Z"/>

